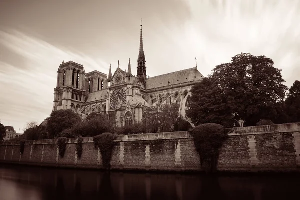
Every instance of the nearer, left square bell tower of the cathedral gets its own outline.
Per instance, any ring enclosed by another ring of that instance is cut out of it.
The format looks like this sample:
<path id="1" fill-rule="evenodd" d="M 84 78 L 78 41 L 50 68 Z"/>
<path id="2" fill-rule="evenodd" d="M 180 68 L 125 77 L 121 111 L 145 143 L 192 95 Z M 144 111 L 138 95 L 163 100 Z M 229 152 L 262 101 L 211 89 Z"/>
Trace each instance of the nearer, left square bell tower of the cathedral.
<path id="1" fill-rule="evenodd" d="M 83 65 L 73 61 L 60 64 L 54 88 L 53 111 L 72 109 L 79 111 L 85 97 L 85 71 Z"/>

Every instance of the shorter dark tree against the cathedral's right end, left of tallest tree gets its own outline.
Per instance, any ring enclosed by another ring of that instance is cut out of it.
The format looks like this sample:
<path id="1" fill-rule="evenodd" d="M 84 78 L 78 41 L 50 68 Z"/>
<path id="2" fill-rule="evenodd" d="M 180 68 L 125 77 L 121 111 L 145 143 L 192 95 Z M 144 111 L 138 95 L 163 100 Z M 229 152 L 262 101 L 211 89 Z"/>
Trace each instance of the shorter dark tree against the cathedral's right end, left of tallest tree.
<path id="1" fill-rule="evenodd" d="M 186 115 L 195 125 L 203 123 L 218 123 L 224 127 L 232 127 L 233 114 L 225 95 L 213 78 L 203 78 L 191 89 L 189 109 Z"/>

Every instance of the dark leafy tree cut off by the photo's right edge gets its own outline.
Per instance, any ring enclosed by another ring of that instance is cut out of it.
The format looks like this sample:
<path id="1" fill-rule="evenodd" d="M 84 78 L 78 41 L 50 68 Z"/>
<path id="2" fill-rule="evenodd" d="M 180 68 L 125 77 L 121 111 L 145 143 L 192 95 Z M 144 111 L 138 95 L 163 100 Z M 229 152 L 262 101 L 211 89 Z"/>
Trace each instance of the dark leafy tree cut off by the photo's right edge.
<path id="1" fill-rule="evenodd" d="M 285 100 L 286 113 L 291 122 L 300 121 L 300 81 L 296 80 L 289 89 Z"/>

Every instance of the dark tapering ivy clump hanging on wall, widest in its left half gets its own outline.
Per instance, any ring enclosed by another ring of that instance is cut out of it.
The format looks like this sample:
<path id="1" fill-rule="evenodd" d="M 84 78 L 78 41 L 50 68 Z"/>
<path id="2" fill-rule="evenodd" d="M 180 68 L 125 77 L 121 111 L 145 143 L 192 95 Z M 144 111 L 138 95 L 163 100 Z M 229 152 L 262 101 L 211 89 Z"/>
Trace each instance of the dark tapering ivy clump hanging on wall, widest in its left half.
<path id="1" fill-rule="evenodd" d="M 101 157 L 104 167 L 107 167 L 111 160 L 112 149 L 115 145 L 114 138 L 115 135 L 112 133 L 103 133 L 101 135 L 93 137 L 95 147 L 98 147 L 101 151 Z"/>

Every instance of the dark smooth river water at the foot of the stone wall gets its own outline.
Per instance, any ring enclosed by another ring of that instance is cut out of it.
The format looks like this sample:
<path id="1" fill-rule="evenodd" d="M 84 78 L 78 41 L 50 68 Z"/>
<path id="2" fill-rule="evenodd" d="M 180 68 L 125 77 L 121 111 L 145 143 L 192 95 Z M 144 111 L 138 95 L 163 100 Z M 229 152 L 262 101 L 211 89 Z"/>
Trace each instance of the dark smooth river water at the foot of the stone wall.
<path id="1" fill-rule="evenodd" d="M 295 174 L 103 172 L 0 165 L 0 200 L 298 199 Z"/>

